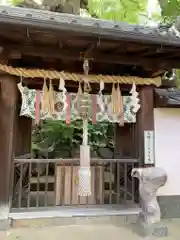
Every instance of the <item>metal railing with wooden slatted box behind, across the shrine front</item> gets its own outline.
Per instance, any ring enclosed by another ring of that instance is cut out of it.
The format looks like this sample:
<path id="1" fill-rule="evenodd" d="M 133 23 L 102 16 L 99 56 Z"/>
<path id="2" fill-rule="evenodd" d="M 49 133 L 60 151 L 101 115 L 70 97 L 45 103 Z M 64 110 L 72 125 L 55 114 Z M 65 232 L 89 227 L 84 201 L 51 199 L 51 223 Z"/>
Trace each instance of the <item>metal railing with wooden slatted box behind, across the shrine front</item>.
<path id="1" fill-rule="evenodd" d="M 127 204 L 138 201 L 137 159 L 92 159 L 92 195 L 78 189 L 79 159 L 15 159 L 12 208 Z"/>

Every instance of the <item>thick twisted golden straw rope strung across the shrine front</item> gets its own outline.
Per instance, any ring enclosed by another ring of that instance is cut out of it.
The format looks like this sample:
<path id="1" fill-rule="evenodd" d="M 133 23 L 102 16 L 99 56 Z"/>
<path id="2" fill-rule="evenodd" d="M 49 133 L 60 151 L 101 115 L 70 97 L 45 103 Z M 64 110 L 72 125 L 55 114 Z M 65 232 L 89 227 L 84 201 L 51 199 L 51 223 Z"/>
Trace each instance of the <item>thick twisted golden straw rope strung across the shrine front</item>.
<path id="1" fill-rule="evenodd" d="M 12 66 L 7 66 L 0 64 L 0 71 L 9 73 L 14 76 L 24 77 L 24 78 L 47 78 L 47 79 L 60 79 L 72 80 L 79 82 L 83 79 L 83 74 L 68 73 L 68 72 L 58 72 L 55 70 L 44 70 L 44 69 L 26 69 L 26 68 L 14 68 Z M 104 83 L 121 83 L 121 84 L 138 84 L 138 85 L 161 85 L 161 77 L 156 78 L 140 78 L 133 76 L 111 76 L 111 75 L 89 75 L 88 80 L 91 83 L 96 83 L 104 81 Z"/>

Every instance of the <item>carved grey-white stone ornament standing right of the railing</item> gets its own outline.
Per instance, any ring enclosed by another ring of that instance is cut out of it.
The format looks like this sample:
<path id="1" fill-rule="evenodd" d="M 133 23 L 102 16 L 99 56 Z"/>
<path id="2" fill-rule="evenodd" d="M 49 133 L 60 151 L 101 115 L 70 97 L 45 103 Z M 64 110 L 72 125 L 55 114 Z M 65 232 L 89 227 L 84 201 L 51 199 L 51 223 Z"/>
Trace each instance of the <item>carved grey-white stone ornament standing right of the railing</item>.
<path id="1" fill-rule="evenodd" d="M 145 235 L 165 236 L 167 227 L 160 225 L 161 211 L 157 201 L 157 191 L 167 181 L 166 172 L 159 167 L 134 168 L 131 176 L 139 179 L 139 195 L 142 212 L 141 227 Z"/>

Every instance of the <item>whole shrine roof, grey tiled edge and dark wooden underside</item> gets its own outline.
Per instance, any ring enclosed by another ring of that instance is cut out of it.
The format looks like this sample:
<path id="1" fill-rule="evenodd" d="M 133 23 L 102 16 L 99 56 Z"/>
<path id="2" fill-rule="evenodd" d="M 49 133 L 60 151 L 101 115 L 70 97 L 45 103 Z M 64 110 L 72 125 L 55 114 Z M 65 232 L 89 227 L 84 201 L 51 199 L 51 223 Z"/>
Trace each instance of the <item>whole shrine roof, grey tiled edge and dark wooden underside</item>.
<path id="1" fill-rule="evenodd" d="M 180 68 L 180 39 L 162 29 L 0 6 L 0 60 L 15 67 L 156 77 Z"/>

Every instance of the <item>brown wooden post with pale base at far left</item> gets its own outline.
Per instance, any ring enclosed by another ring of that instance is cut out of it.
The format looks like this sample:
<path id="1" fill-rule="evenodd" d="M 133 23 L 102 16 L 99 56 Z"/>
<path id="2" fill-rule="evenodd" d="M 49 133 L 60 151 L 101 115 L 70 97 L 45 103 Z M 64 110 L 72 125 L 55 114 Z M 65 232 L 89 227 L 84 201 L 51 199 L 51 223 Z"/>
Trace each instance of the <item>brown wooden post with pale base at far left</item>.
<path id="1" fill-rule="evenodd" d="M 0 76 L 0 87 L 0 223 L 4 224 L 10 208 L 18 90 L 16 79 L 7 74 Z"/>

